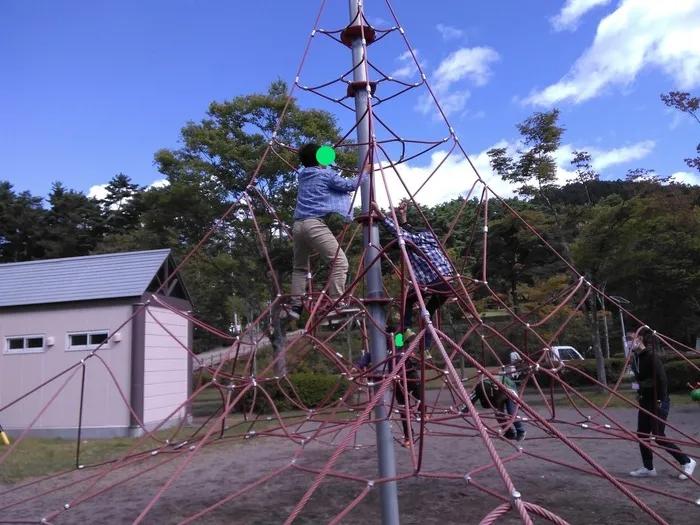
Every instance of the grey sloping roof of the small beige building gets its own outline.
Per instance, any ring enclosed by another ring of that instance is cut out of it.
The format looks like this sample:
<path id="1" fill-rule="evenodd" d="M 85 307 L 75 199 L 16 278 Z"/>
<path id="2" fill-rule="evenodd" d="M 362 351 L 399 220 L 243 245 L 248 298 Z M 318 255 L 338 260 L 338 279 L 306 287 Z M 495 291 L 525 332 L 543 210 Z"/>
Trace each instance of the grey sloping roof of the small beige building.
<path id="1" fill-rule="evenodd" d="M 140 297 L 169 257 L 165 249 L 0 264 L 0 308 Z"/>

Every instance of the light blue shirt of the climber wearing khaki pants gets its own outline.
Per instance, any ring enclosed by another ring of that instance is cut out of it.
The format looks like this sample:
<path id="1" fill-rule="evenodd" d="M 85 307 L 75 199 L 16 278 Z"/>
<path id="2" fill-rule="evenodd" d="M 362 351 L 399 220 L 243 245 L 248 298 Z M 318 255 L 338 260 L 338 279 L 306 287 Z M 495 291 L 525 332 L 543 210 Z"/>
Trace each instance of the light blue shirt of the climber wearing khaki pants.
<path id="1" fill-rule="evenodd" d="M 321 218 L 338 213 L 346 222 L 352 222 L 350 192 L 358 187 L 358 178 L 344 179 L 336 172 L 318 166 L 299 170 L 294 218 Z"/>

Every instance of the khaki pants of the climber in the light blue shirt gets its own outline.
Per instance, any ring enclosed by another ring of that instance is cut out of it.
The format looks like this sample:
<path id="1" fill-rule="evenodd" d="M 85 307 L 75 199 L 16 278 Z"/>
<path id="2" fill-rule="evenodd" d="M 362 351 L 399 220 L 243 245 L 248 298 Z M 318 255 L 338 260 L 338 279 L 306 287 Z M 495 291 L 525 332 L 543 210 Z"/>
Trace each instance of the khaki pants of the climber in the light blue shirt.
<path id="1" fill-rule="evenodd" d="M 338 241 L 321 219 L 303 219 L 294 222 L 294 272 L 292 273 L 292 304 L 301 303 L 300 296 L 306 292 L 306 273 L 309 256 L 318 252 L 331 270 L 328 296 L 337 299 L 345 292 L 348 276 L 348 259 L 338 246 Z M 337 252 L 337 254 L 336 254 Z"/>

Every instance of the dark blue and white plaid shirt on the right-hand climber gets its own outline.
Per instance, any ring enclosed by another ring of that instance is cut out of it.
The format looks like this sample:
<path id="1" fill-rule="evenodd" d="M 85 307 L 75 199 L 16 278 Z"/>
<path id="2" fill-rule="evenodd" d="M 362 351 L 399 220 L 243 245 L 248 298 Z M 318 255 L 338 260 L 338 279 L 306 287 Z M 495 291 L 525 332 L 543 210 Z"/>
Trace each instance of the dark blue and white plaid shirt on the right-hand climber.
<path id="1" fill-rule="evenodd" d="M 413 246 L 406 245 L 408 259 L 416 273 L 419 284 L 426 285 L 439 280 L 441 277 L 450 277 L 453 273 L 452 264 L 442 251 L 440 241 L 428 231 L 416 231 L 410 225 L 404 224 L 397 231 L 390 217 L 385 217 L 384 226 L 394 237 L 401 237 L 411 241 Z M 422 253 L 421 253 L 422 252 Z M 432 265 L 437 269 L 433 270 Z"/>

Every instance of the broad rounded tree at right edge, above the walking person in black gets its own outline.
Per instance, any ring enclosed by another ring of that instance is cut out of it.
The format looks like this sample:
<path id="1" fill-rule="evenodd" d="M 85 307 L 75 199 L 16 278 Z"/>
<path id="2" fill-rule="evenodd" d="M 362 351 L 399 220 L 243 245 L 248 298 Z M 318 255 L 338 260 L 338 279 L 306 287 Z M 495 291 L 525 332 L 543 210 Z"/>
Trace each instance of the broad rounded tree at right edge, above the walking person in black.
<path id="1" fill-rule="evenodd" d="M 653 329 L 693 343 L 700 302 L 700 215 L 692 195 L 663 191 L 593 209 L 573 245 L 578 265 L 603 276 Z"/>

